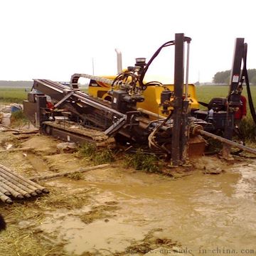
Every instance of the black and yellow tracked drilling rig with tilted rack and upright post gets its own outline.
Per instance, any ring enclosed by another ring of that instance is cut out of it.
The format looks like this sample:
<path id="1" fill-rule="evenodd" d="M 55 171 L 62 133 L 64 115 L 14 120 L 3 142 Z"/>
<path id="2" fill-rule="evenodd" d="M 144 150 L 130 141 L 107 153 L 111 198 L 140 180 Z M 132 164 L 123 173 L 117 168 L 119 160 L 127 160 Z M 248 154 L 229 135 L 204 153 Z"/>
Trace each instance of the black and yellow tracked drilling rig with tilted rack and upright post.
<path id="1" fill-rule="evenodd" d="M 198 102 L 194 86 L 188 85 L 190 43 L 191 38 L 178 33 L 175 41 L 164 43 L 148 63 L 137 58 L 134 67 L 114 77 L 74 74 L 68 83 L 36 79 L 23 103 L 24 112 L 41 132 L 68 142 L 97 146 L 129 142 L 169 156 L 174 166 L 183 164 L 191 152 L 203 154 L 205 140 L 195 131 L 209 124 L 191 114 L 198 110 Z M 168 46 L 175 46 L 174 85 L 145 82 L 149 65 Z M 90 94 L 80 90 L 80 78 L 90 80 Z"/>

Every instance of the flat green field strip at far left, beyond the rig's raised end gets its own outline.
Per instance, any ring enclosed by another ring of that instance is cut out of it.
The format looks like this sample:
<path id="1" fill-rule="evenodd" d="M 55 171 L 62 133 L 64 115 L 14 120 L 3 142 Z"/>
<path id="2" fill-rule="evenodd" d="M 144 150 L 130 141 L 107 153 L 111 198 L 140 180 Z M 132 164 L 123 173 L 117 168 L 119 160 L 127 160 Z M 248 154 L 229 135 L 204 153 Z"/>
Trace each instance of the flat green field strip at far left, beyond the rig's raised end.
<path id="1" fill-rule="evenodd" d="M 22 103 L 28 97 L 28 91 L 25 88 L 0 87 L 1 103 Z"/>

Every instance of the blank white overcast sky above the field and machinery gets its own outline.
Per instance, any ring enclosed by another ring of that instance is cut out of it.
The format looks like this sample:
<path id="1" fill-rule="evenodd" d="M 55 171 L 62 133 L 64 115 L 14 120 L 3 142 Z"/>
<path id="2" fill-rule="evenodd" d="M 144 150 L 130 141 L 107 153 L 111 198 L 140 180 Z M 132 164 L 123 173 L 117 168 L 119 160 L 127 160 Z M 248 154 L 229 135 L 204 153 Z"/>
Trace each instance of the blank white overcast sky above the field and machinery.
<path id="1" fill-rule="evenodd" d="M 255 0 L 0 0 L 0 80 L 70 80 L 73 73 L 117 73 L 148 60 L 175 33 L 192 38 L 189 81 L 211 81 L 231 68 L 235 38 L 248 43 L 256 68 Z M 174 47 L 163 50 L 151 75 L 174 76 Z"/>

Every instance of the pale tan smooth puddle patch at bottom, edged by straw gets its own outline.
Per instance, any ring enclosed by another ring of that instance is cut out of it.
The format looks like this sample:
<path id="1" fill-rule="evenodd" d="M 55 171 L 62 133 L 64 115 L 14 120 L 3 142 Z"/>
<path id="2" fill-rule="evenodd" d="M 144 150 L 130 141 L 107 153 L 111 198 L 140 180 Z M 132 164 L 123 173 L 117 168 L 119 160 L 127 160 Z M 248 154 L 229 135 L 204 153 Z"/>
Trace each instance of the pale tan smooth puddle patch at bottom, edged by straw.
<path id="1" fill-rule="evenodd" d="M 85 224 L 79 217 L 57 214 L 47 218 L 41 229 L 47 233 L 58 230 L 58 239 L 68 241 L 65 250 L 75 255 L 90 250 L 90 252 L 108 255 L 109 252 L 124 251 L 131 240 L 142 240 L 144 229 L 138 230 L 131 223 L 122 220 L 95 220 Z M 108 253 L 107 253 L 108 252 Z"/>

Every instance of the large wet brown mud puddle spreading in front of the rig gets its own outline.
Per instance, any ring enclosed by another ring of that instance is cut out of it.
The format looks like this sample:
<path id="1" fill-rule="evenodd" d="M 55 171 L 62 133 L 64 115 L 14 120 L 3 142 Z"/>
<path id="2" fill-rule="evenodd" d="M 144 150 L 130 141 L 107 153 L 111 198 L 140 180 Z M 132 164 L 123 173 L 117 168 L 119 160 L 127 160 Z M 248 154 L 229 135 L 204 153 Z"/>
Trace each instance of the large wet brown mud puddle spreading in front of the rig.
<path id="1" fill-rule="evenodd" d="M 100 177 L 91 171 L 82 181 L 49 181 L 52 186 L 94 188 L 90 207 L 108 202 L 116 202 L 118 207 L 102 208 L 90 223 L 82 222 L 85 210 L 61 218 L 53 214 L 42 229 L 57 232 L 58 238 L 67 242 L 65 250 L 75 255 L 124 253 L 139 245 L 151 230 L 159 230 L 156 239 L 172 240 L 193 255 L 201 255 L 202 250 L 213 255 L 216 248 L 256 252 L 255 169 L 253 161 L 229 166 L 218 175 L 195 170 L 174 181 L 139 172 L 124 172 L 120 177 L 119 169 L 113 168 L 105 173 L 101 170 Z"/>

